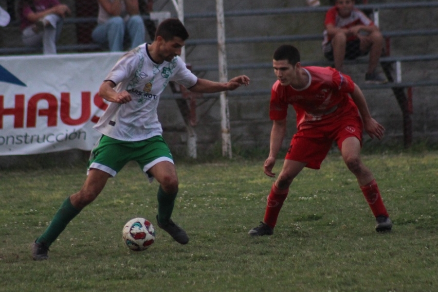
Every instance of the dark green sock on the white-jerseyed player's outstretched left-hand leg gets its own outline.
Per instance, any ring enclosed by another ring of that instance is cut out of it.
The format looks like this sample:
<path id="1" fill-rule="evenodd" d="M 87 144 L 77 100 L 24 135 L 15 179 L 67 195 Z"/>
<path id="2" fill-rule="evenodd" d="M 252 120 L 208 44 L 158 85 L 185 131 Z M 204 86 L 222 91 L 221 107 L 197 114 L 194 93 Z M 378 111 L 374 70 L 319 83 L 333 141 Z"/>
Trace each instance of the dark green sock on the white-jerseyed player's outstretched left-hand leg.
<path id="1" fill-rule="evenodd" d="M 59 207 L 58 212 L 56 212 L 49 227 L 47 227 L 46 231 L 38 237 L 36 242 L 43 242 L 47 246 L 50 246 L 65 229 L 67 224 L 69 224 L 80 211 L 81 210 L 77 210 L 73 207 L 70 197 L 67 198 L 62 203 L 61 207 Z"/>

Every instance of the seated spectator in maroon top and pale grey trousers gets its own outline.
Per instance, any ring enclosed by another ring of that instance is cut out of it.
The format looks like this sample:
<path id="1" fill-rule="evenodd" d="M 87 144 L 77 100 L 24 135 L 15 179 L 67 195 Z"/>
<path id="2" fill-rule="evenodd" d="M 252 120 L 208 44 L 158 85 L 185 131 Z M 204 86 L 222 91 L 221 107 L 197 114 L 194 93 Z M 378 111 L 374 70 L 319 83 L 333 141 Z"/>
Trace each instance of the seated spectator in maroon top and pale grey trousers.
<path id="1" fill-rule="evenodd" d="M 42 45 L 45 55 L 56 54 L 56 41 L 61 35 L 63 18 L 71 14 L 58 0 L 20 0 L 22 40 L 24 45 Z"/>

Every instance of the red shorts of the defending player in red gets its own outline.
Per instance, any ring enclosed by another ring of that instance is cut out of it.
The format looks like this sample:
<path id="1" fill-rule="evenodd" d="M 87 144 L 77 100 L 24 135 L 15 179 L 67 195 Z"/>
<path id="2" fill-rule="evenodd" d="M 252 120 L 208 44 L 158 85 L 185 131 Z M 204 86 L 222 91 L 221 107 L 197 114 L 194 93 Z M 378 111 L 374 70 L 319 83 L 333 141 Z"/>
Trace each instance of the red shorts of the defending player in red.
<path id="1" fill-rule="evenodd" d="M 356 137 L 362 145 L 363 123 L 359 116 L 344 117 L 326 126 L 300 129 L 292 137 L 285 159 L 307 162 L 306 167 L 319 169 L 336 141 L 340 150 L 348 137 Z"/>

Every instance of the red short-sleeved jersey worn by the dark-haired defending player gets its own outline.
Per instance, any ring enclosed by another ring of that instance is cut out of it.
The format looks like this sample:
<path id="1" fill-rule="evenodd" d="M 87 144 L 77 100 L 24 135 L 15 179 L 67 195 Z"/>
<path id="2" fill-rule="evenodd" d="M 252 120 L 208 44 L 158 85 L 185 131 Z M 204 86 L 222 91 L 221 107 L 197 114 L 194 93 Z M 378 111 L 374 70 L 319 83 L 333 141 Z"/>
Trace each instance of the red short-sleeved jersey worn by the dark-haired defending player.
<path id="1" fill-rule="evenodd" d="M 303 89 L 282 86 L 277 80 L 271 91 L 269 116 L 283 120 L 291 104 L 296 112 L 297 129 L 329 125 L 340 116 L 358 116 L 358 109 L 349 93 L 354 82 L 330 67 L 303 67 L 309 74 L 309 83 Z"/>

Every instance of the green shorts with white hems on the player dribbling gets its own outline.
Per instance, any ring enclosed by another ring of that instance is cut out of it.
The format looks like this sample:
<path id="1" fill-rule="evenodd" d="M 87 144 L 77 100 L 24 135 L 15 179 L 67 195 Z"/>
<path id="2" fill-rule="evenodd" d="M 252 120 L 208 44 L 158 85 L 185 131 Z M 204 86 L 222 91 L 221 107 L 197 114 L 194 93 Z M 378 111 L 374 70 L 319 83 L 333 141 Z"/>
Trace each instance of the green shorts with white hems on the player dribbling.
<path id="1" fill-rule="evenodd" d="M 147 171 L 162 161 L 173 163 L 173 157 L 162 136 L 129 142 L 102 135 L 91 150 L 87 173 L 90 168 L 96 168 L 114 177 L 129 161 L 136 161 L 152 181 Z"/>

